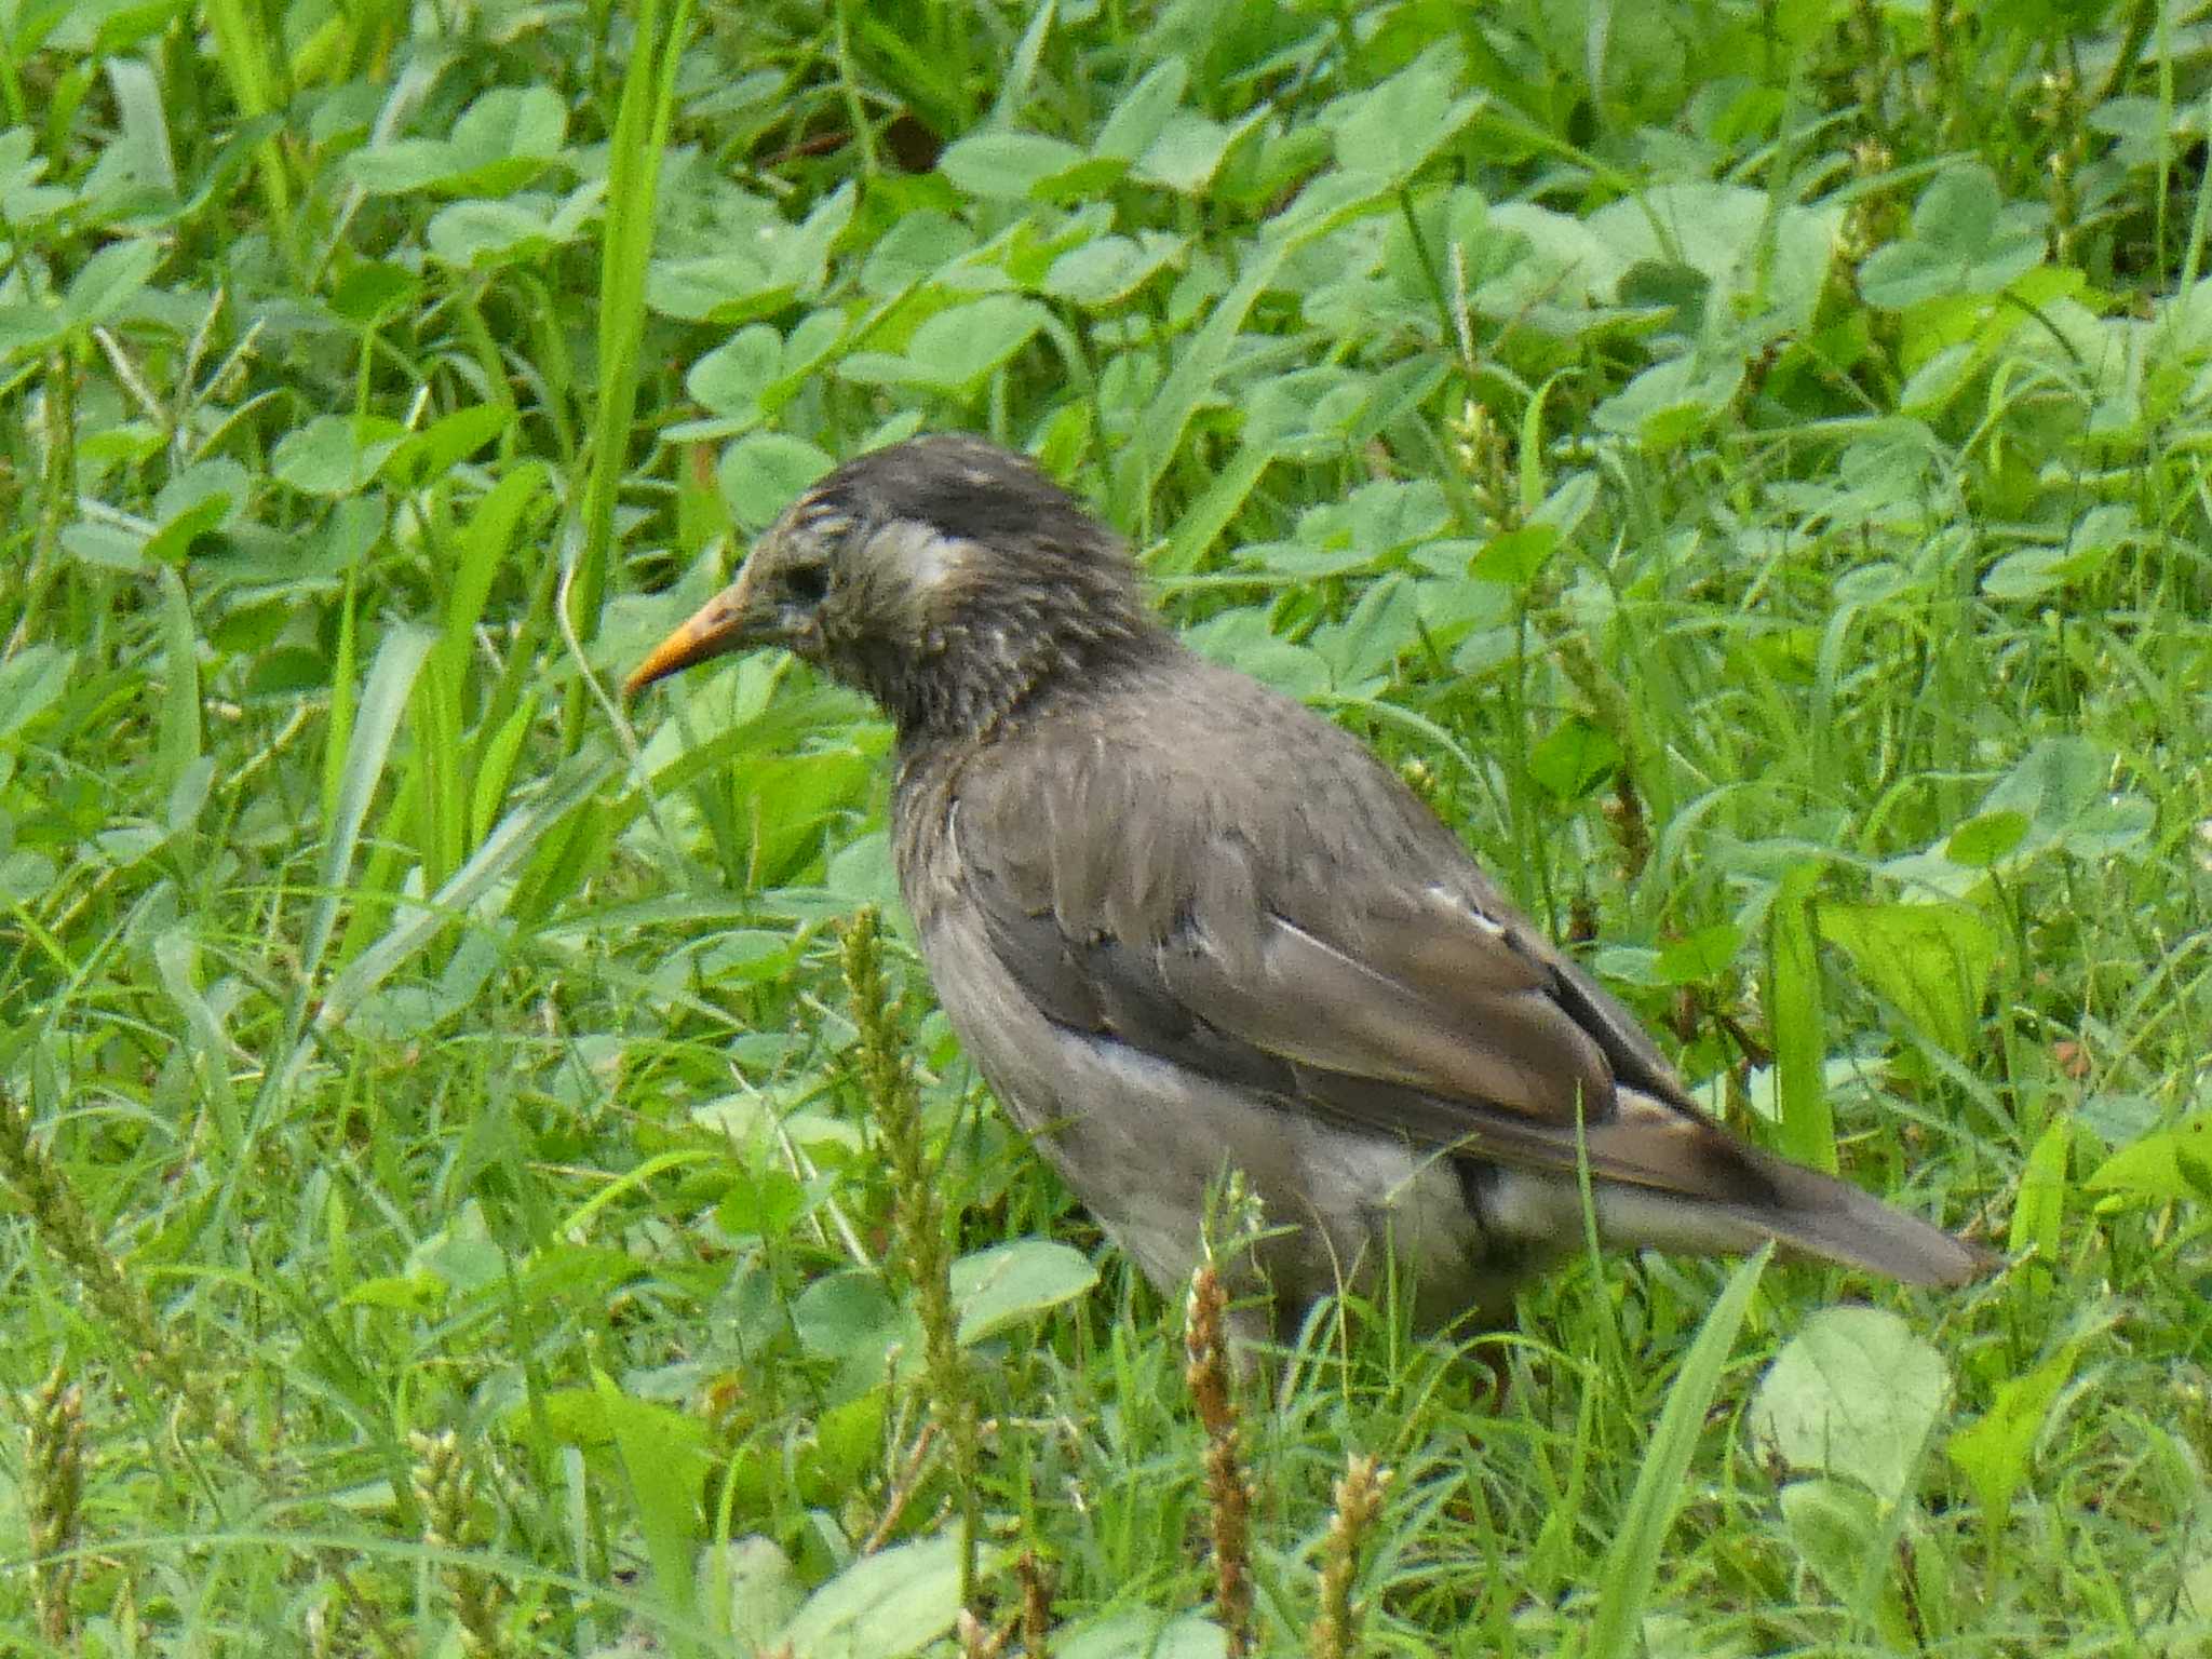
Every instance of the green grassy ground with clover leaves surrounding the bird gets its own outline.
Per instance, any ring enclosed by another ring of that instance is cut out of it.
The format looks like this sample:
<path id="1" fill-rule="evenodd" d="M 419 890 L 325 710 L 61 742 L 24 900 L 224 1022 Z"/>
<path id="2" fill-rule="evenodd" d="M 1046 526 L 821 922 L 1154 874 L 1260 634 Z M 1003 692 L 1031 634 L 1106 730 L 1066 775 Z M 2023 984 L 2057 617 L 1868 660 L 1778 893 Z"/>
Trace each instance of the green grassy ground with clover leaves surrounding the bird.
<path id="1" fill-rule="evenodd" d="M 0 7 L 0 1650 L 2212 1650 L 2208 53 Z M 2015 1265 L 1577 1263 L 1504 1402 L 1389 1307 L 1188 1387 L 854 933 L 885 728 L 606 690 L 938 427 Z"/>

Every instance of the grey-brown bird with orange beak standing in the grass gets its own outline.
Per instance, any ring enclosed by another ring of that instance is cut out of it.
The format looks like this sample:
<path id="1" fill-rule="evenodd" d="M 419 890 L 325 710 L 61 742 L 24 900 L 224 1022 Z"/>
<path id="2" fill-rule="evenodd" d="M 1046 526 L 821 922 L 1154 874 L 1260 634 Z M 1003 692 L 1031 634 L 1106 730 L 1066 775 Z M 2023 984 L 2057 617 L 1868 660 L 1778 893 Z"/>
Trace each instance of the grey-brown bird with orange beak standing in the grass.
<path id="1" fill-rule="evenodd" d="M 938 1002 L 1161 1294 L 1210 1256 L 1232 1177 L 1267 1327 L 1389 1285 L 1420 1332 L 1504 1327 L 1593 1225 L 1911 1285 L 1995 1263 L 1701 1110 L 1396 770 L 1186 646 L 1026 456 L 931 434 L 847 460 L 628 692 L 770 646 L 894 723 L 891 852 Z"/>

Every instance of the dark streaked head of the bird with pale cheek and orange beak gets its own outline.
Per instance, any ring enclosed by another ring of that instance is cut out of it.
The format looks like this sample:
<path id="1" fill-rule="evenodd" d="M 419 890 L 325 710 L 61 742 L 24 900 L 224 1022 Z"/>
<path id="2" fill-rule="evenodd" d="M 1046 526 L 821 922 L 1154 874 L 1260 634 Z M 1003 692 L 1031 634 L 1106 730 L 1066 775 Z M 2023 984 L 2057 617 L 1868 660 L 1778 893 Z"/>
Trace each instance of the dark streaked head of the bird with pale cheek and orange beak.
<path id="1" fill-rule="evenodd" d="M 628 690 L 783 646 L 902 732 L 973 730 L 1161 637 L 1121 542 L 1073 495 L 1026 456 L 936 436 L 849 460 L 792 502 Z"/>

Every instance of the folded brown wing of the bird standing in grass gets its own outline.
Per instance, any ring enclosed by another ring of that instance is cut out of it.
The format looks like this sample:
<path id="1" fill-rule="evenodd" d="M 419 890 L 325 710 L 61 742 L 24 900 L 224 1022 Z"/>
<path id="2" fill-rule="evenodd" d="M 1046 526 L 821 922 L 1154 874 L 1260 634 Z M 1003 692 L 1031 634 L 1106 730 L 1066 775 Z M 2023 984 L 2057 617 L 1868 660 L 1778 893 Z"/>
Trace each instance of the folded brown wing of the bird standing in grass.
<path id="1" fill-rule="evenodd" d="M 1046 1018 L 1416 1146 L 1772 1197 L 1398 779 L 1321 721 L 1279 737 L 1329 752 L 1274 785 L 1168 763 L 1166 799 L 1157 750 L 1097 732 L 967 770 L 964 883 Z"/>

